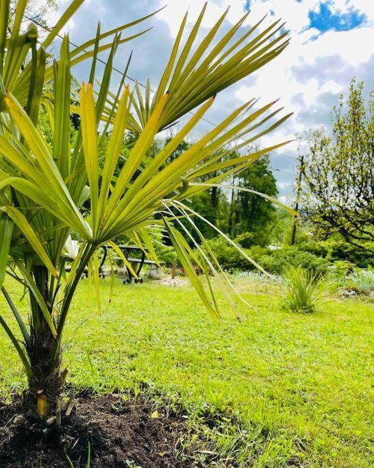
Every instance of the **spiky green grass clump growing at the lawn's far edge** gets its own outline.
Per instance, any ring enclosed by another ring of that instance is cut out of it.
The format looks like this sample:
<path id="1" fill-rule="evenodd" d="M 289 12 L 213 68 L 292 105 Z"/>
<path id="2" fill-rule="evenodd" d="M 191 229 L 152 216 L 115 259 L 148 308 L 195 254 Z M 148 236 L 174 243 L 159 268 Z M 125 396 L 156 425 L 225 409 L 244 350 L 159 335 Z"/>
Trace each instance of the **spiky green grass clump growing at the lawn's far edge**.
<path id="1" fill-rule="evenodd" d="M 284 306 L 292 312 L 314 312 L 331 297 L 332 282 L 301 267 L 291 267 L 284 275 Z"/>

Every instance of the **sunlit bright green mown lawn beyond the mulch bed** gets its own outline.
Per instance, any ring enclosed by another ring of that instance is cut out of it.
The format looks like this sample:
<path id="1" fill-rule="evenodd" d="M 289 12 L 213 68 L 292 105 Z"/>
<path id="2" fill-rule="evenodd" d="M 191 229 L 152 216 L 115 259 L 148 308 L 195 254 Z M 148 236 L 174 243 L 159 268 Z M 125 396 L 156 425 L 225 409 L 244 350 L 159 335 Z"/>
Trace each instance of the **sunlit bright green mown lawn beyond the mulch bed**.
<path id="1" fill-rule="evenodd" d="M 101 315 L 94 297 L 87 307 L 83 280 L 66 328 L 75 387 L 182 403 L 219 466 L 373 466 L 373 304 L 336 299 L 314 315 L 291 314 L 276 286 L 237 280 L 255 310 L 240 306 L 242 323 L 228 311 L 215 323 L 189 286 L 119 282 L 108 304 L 110 280 L 101 282 Z M 14 299 L 22 293 L 8 288 Z M 10 317 L 2 298 L 0 312 Z M 25 380 L 3 331 L 0 354 L 7 397 Z M 209 412 L 221 414 L 213 428 L 201 417 Z"/>

